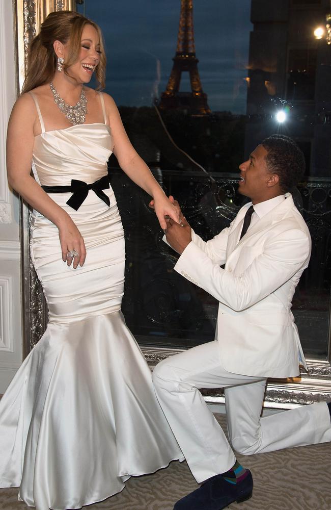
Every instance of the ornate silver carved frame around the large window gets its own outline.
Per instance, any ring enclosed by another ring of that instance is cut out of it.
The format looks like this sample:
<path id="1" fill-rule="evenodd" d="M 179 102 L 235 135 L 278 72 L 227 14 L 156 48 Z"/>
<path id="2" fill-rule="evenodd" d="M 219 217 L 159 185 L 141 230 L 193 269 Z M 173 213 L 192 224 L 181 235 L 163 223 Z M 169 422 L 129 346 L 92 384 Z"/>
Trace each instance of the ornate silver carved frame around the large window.
<path id="1" fill-rule="evenodd" d="M 51 11 L 75 9 L 74 0 L 13 0 L 16 13 L 16 48 L 18 63 L 18 89 L 24 80 L 27 47 L 38 33 L 42 20 Z M 36 345 L 47 324 L 47 308 L 42 288 L 30 257 L 31 210 L 21 201 L 21 249 L 22 249 L 22 297 L 24 357 Z M 329 326 L 331 327 L 331 326 Z M 329 339 L 331 330 L 329 330 Z M 142 347 L 151 368 L 157 362 L 180 352 L 180 349 L 164 347 Z M 290 409 L 299 404 L 308 404 L 331 399 L 331 342 L 328 342 L 327 360 L 308 359 L 309 372 L 292 379 L 269 379 L 265 394 L 265 407 Z M 204 391 L 204 398 L 210 403 L 223 403 L 221 390 Z"/>

